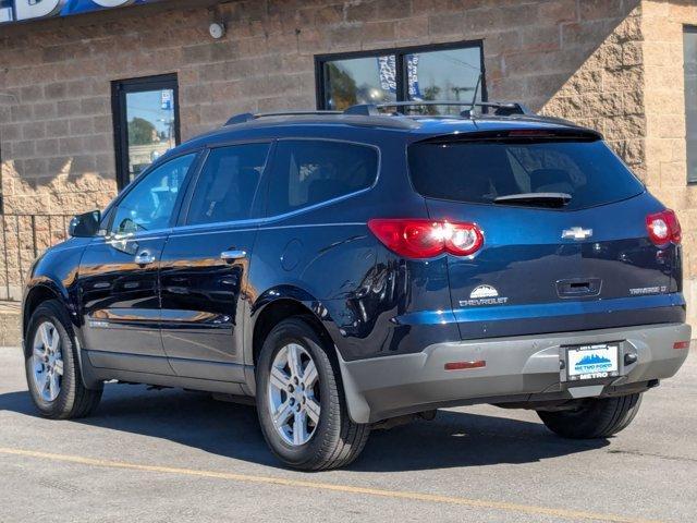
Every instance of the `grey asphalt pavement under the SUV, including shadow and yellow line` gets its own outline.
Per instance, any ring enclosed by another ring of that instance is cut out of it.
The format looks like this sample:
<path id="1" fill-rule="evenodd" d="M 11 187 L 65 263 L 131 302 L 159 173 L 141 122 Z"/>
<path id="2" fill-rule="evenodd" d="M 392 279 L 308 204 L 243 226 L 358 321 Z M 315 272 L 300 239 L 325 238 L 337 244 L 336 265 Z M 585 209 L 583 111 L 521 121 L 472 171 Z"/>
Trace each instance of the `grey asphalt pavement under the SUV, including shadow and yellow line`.
<path id="1" fill-rule="evenodd" d="M 697 356 L 611 439 L 568 441 L 481 405 L 374 431 L 350 467 L 285 470 L 254 408 L 108 385 L 96 414 L 38 417 L 0 349 L 0 522 L 697 521 Z"/>

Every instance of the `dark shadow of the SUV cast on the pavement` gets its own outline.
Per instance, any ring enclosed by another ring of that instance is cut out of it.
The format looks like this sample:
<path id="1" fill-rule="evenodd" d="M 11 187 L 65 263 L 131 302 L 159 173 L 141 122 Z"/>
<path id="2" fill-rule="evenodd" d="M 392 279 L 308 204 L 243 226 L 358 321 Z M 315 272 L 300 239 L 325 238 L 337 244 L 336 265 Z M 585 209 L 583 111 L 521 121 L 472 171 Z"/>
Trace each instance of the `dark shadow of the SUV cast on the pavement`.
<path id="1" fill-rule="evenodd" d="M 3 410 L 38 416 L 27 391 L 0 394 Z M 512 419 L 505 410 L 500 412 L 501 417 L 440 411 L 431 422 L 375 430 L 360 458 L 347 470 L 393 472 L 533 463 L 609 445 L 607 439 L 564 440 L 541 423 Z M 111 385 L 95 414 L 74 423 L 280 466 L 264 441 L 253 406 L 215 401 L 204 393 Z"/>

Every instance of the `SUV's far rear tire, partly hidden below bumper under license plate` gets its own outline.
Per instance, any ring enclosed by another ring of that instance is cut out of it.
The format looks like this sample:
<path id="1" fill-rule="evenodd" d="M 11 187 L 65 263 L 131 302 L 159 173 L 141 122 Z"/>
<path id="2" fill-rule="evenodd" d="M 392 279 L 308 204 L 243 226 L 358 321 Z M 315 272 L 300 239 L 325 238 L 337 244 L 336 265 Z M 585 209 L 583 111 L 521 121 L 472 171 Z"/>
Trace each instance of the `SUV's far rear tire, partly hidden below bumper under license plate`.
<path id="1" fill-rule="evenodd" d="M 607 438 L 632 423 L 641 394 L 584 400 L 574 411 L 538 411 L 542 423 L 564 438 Z"/>

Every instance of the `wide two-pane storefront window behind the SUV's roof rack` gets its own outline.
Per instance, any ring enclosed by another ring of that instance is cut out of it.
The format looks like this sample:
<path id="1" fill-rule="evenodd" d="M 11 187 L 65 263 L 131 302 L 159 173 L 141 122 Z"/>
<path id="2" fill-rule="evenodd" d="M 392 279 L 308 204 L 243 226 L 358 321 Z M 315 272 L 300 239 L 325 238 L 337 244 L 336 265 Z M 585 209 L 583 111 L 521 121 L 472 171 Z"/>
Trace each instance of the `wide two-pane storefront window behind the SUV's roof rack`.
<path id="1" fill-rule="evenodd" d="M 407 100 L 480 101 L 485 96 L 481 44 L 396 49 L 392 52 L 317 57 L 318 106 Z M 479 83 L 479 85 L 478 85 Z M 415 107 L 406 112 L 456 113 L 456 107 Z"/>

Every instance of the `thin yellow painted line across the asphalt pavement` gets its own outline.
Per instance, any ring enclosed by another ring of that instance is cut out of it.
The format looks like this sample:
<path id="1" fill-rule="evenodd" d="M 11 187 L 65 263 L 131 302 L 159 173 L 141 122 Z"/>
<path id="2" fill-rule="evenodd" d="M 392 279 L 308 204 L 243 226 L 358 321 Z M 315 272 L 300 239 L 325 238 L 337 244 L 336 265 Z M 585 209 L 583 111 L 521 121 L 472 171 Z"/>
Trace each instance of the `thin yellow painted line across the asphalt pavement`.
<path id="1" fill-rule="evenodd" d="M 411 501 L 426 501 L 431 503 L 453 504 L 476 509 L 493 509 L 509 512 L 522 512 L 535 515 L 548 515 L 551 518 L 563 518 L 570 520 L 585 521 L 609 521 L 613 523 L 659 523 L 655 520 L 641 520 L 631 516 L 615 514 L 603 514 L 598 512 L 585 512 L 566 509 L 553 509 L 548 507 L 537 507 L 534 504 L 509 503 L 504 501 L 487 501 L 484 499 L 469 499 L 455 496 L 440 496 L 437 494 L 409 492 L 404 490 L 387 490 L 381 488 L 358 487 L 353 485 L 340 485 L 332 483 L 305 482 L 302 479 L 291 479 L 276 476 L 257 476 L 250 474 L 235 474 L 230 472 L 201 471 L 196 469 L 180 469 L 174 466 L 145 465 L 140 463 L 129 463 L 123 461 L 99 460 L 95 458 L 84 458 L 82 455 L 54 454 L 50 452 L 39 452 L 35 450 L 23 450 L 0 447 L 0 454 L 21 455 L 25 458 L 38 458 L 64 463 L 75 463 L 81 465 L 98 466 L 105 469 L 125 469 L 131 471 L 155 472 L 161 474 L 174 474 L 183 476 L 197 476 L 215 479 L 229 479 L 241 483 L 255 483 L 266 485 L 281 485 L 285 487 L 306 488 L 309 490 L 329 490 L 334 492 L 360 494 L 380 498 L 405 499 Z"/>

